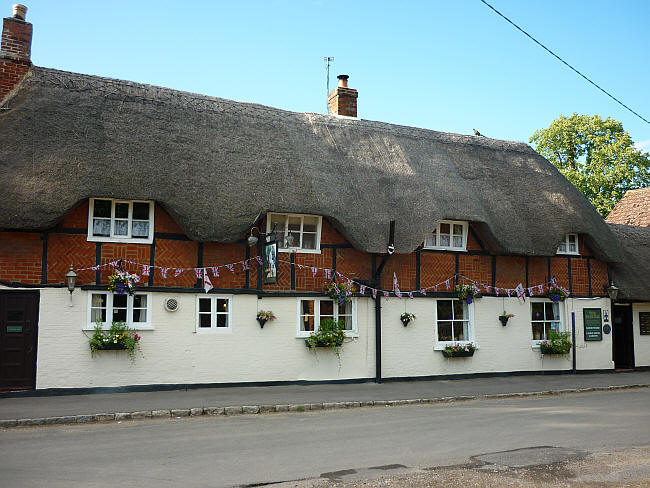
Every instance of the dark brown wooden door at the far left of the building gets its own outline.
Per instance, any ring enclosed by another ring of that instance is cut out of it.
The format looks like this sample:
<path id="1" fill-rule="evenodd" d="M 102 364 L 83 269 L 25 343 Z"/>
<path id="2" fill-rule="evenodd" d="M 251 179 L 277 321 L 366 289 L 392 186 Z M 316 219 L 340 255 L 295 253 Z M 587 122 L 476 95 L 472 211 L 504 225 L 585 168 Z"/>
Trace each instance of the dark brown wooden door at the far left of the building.
<path id="1" fill-rule="evenodd" d="M 38 292 L 0 292 L 0 390 L 36 386 Z"/>

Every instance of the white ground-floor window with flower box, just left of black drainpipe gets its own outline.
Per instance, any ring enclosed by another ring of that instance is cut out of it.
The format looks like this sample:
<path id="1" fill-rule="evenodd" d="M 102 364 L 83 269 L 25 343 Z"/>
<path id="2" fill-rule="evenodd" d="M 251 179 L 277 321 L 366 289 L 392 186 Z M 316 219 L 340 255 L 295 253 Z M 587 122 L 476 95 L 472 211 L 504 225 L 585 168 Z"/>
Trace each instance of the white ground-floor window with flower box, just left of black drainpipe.
<path id="1" fill-rule="evenodd" d="M 325 298 L 298 299 L 298 337 L 309 337 L 312 332 L 318 332 L 322 319 L 344 320 L 345 335 L 358 336 L 356 300 L 339 305 L 334 300 Z"/>

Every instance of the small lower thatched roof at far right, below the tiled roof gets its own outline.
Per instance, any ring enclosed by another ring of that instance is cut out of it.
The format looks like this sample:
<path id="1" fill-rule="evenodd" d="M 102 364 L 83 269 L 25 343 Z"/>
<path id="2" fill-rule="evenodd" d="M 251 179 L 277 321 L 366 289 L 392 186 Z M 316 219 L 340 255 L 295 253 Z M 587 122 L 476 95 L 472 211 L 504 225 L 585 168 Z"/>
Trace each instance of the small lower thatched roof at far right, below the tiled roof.
<path id="1" fill-rule="evenodd" d="M 650 227 L 609 226 L 623 246 L 624 261 L 612 266 L 619 299 L 650 302 Z"/>

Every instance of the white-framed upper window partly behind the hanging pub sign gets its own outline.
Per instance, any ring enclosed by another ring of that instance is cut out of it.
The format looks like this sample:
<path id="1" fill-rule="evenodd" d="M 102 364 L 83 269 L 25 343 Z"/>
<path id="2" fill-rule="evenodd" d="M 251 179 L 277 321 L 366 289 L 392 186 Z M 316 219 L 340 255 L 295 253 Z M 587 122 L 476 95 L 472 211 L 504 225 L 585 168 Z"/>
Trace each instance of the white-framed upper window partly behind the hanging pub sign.
<path id="1" fill-rule="evenodd" d="M 266 232 L 274 232 L 280 251 L 320 253 L 322 217 L 303 214 L 271 213 Z"/>

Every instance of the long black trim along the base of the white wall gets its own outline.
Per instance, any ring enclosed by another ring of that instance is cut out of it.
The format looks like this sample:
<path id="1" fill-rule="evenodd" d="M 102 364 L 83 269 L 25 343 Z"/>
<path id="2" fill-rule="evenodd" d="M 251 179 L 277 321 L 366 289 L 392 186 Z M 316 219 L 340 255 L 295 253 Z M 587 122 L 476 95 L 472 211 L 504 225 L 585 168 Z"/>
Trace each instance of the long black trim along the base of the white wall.
<path id="1" fill-rule="evenodd" d="M 650 366 L 639 366 L 625 371 L 615 369 L 583 369 L 577 374 L 626 374 L 636 371 L 650 371 Z M 497 378 L 508 376 L 539 376 L 539 375 L 563 375 L 573 374 L 568 370 L 539 370 L 539 371 L 506 371 L 497 373 L 467 373 L 467 374 L 445 374 L 432 376 L 393 376 L 382 378 L 383 381 L 432 381 L 432 380 L 465 380 L 472 378 Z M 239 388 L 247 386 L 287 386 L 287 385 L 331 385 L 331 384 L 359 384 L 372 383 L 374 378 L 351 378 L 346 380 L 295 380 L 295 381 L 249 381 L 236 383 L 173 383 L 173 384 L 152 384 L 152 385 L 130 385 L 130 386 L 97 386 L 93 388 L 44 388 L 41 390 L 23 390 L 0 392 L 0 398 L 18 397 L 48 397 L 66 395 L 95 395 L 101 393 L 129 393 L 138 391 L 172 391 L 172 390 L 197 390 L 200 388 Z"/>

